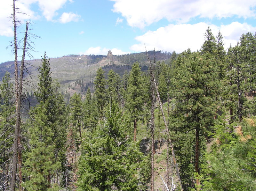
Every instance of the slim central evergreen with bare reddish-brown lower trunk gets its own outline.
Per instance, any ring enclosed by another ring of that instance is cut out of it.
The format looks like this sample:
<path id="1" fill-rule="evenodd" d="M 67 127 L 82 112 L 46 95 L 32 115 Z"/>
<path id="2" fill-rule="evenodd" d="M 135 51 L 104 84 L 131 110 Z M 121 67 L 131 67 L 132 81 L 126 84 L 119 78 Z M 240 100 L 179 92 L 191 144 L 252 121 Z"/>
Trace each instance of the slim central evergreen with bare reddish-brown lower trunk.
<path id="1" fill-rule="evenodd" d="M 138 62 L 135 62 L 132 65 L 132 70 L 128 79 L 126 102 L 126 107 L 129 110 L 133 121 L 133 139 L 136 141 L 137 121 L 142 113 L 144 103 L 143 78 L 141 77 L 141 70 Z"/>

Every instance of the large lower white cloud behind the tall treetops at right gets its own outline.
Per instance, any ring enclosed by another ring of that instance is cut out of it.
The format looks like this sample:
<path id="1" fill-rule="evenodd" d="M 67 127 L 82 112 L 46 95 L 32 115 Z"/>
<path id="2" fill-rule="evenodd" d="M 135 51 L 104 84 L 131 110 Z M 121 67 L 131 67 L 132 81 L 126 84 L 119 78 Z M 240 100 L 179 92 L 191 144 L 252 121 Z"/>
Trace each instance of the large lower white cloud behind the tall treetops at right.
<path id="1" fill-rule="evenodd" d="M 218 31 L 225 37 L 224 47 L 227 49 L 230 44 L 235 46 L 243 33 L 255 33 L 256 27 L 252 27 L 247 23 L 233 22 L 230 25 L 208 25 L 206 23 L 191 24 L 170 24 L 166 27 L 158 28 L 156 31 L 148 31 L 147 33 L 137 36 L 135 39 L 139 41 L 130 47 L 135 52 L 145 51 L 144 43 L 147 50 L 163 50 L 172 52 L 182 52 L 188 48 L 192 51 L 200 50 L 204 42 L 204 33 L 206 28 L 210 26 L 214 36 Z"/>

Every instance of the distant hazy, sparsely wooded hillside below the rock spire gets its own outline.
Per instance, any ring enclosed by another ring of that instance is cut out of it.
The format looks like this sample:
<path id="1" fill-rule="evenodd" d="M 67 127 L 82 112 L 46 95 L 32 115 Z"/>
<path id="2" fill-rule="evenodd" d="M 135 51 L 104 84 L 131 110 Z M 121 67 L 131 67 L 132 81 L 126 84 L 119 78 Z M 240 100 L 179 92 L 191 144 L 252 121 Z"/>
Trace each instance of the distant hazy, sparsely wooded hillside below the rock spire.
<path id="1" fill-rule="evenodd" d="M 148 51 L 151 59 L 153 60 L 154 51 Z M 156 61 L 165 61 L 171 57 L 171 53 L 163 53 L 162 51 L 155 52 Z M 41 59 L 28 60 L 26 65 L 29 74 L 26 74 L 27 80 L 37 85 L 38 83 L 38 67 L 41 64 Z M 80 92 L 85 95 L 88 86 L 94 91 L 93 80 L 96 76 L 96 71 L 99 67 L 105 71 L 113 69 L 120 76 L 123 76 L 124 71 L 130 71 L 134 62 L 139 62 L 142 70 L 147 70 L 147 56 L 146 53 L 133 53 L 126 55 L 114 55 L 113 61 L 106 58 L 105 55 L 67 55 L 60 58 L 51 58 L 50 66 L 52 71 L 52 79 L 58 79 L 60 82 L 60 90 L 67 98 L 73 95 L 74 92 Z M 14 62 L 4 62 L 0 64 L 0 81 L 5 72 L 8 71 L 12 74 L 14 79 Z M 32 91 L 32 87 L 27 87 L 28 92 Z"/>

